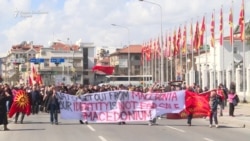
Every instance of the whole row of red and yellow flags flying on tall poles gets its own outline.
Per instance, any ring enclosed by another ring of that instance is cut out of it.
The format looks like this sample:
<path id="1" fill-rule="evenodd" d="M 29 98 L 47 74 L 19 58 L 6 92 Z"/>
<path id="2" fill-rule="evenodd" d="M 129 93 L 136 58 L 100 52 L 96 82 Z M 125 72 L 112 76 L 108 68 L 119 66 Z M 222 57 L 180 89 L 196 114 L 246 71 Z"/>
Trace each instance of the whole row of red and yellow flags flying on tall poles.
<path id="1" fill-rule="evenodd" d="M 240 15 L 239 15 L 239 22 L 238 25 L 240 27 L 240 40 L 243 41 L 245 38 L 245 14 L 244 14 L 244 0 L 242 0 Z M 211 24 L 210 24 L 210 33 L 211 39 L 210 44 L 211 47 L 215 47 L 215 20 L 214 20 L 215 12 L 212 13 L 211 17 Z M 219 43 L 223 46 L 223 30 L 224 30 L 224 23 L 223 23 L 223 7 L 220 10 L 220 39 Z M 230 26 L 230 43 L 233 44 L 233 9 L 230 8 L 228 23 Z M 204 46 L 204 33 L 206 32 L 206 18 L 203 16 L 201 25 L 199 25 L 199 21 L 196 22 L 195 31 L 193 31 L 193 23 L 190 24 L 190 44 L 187 44 L 187 25 L 183 26 L 183 31 L 181 26 L 178 28 L 178 32 L 175 29 L 173 33 L 167 33 L 165 36 L 165 40 L 162 39 L 162 48 L 160 44 L 160 37 L 156 39 L 151 39 L 143 43 L 142 48 L 142 59 L 150 61 L 152 58 L 159 59 L 161 55 L 164 55 L 165 58 L 178 56 L 187 53 L 188 51 L 196 51 L 198 52 L 199 49 Z M 161 54 L 161 52 L 163 52 Z"/>

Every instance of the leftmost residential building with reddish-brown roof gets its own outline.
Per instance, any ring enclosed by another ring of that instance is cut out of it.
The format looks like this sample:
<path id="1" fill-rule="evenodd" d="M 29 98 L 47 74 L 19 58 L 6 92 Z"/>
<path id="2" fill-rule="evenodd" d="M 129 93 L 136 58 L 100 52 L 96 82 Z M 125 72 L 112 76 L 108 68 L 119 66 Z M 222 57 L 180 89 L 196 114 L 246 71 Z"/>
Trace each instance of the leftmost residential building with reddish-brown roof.
<path id="1" fill-rule="evenodd" d="M 13 45 L 7 56 L 2 58 L 2 76 L 9 84 L 27 83 L 31 74 L 30 58 L 43 48 L 42 45 L 34 45 L 33 42 L 23 41 Z"/>

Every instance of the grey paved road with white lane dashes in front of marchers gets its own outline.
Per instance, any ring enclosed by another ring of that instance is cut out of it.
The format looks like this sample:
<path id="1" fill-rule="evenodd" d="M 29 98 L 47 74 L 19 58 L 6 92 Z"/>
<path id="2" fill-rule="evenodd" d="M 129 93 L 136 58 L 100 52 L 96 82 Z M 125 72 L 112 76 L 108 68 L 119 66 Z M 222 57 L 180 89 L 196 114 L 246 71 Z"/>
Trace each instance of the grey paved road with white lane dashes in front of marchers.
<path id="1" fill-rule="evenodd" d="M 81 125 L 79 121 L 60 120 L 59 125 L 49 123 L 49 115 L 40 113 L 25 117 L 24 124 L 9 124 L 10 131 L 0 131 L 0 139 L 8 141 L 249 141 L 250 129 L 236 124 L 221 123 L 209 128 L 207 119 L 194 119 L 193 126 L 186 120 L 118 124 Z"/>

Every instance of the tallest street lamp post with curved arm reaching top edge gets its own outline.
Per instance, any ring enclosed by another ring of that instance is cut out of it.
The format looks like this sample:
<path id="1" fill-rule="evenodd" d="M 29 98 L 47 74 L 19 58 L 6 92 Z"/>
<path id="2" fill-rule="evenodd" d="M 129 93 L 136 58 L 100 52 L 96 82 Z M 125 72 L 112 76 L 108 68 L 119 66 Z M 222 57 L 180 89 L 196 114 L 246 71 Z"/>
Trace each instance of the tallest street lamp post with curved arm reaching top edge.
<path id="1" fill-rule="evenodd" d="M 163 85 L 163 81 L 164 81 L 164 73 L 163 73 L 163 71 L 164 71 L 163 62 L 164 61 L 163 61 L 163 59 L 164 59 L 164 57 L 163 57 L 163 39 L 162 39 L 163 38 L 162 37 L 162 35 L 163 35 L 162 34 L 162 7 L 161 7 L 160 4 L 155 3 L 155 2 L 151 2 L 151 1 L 147 1 L 147 0 L 139 0 L 139 1 L 147 2 L 147 3 L 150 3 L 150 4 L 156 5 L 156 6 L 158 6 L 160 8 L 160 11 L 161 11 L 161 43 L 160 43 L 160 45 L 161 45 L 161 61 L 160 61 L 161 72 L 160 72 L 160 81 L 161 81 L 161 84 Z M 168 66 L 168 61 L 167 61 L 166 65 Z M 167 71 L 167 74 L 168 74 L 168 69 L 166 71 Z M 167 79 L 168 79 L 168 77 L 167 77 Z M 166 81 L 168 81 L 168 80 L 166 80 Z"/>

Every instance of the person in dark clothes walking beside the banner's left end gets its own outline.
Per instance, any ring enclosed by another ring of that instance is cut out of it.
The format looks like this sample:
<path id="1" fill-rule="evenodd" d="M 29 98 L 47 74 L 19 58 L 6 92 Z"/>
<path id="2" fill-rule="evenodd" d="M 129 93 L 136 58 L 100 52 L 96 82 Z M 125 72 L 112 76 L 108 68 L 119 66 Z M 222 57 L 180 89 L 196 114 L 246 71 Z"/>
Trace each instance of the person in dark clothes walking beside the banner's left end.
<path id="1" fill-rule="evenodd" d="M 47 109 L 50 112 L 51 124 L 58 124 L 58 111 L 60 110 L 56 89 L 52 88 L 52 93 L 48 95 Z"/>

